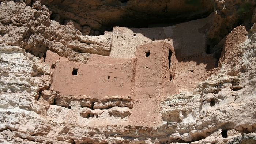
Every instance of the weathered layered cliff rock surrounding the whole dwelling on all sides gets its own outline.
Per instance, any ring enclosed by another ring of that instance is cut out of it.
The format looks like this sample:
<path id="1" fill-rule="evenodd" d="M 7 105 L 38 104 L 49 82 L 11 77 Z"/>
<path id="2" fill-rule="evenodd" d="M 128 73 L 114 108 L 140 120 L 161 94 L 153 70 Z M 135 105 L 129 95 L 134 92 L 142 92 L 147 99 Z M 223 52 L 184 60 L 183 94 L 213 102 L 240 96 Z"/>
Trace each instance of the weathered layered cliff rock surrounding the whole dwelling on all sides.
<path id="1" fill-rule="evenodd" d="M 100 35 L 98 30 L 118 23 L 124 15 L 137 12 L 136 18 L 154 20 L 159 16 L 148 15 L 157 12 L 161 18 L 177 12 L 169 18 L 194 19 L 213 10 L 210 1 L 170 1 L 168 5 L 139 1 L 134 6 L 137 2 L 0 0 L 0 143 L 256 142 L 256 10 L 252 10 L 252 0 L 215 0 L 217 24 L 207 38 L 218 39 L 213 43 L 222 49 L 221 54 L 210 49 L 211 54 L 220 55 L 218 69 L 193 90 L 180 89 L 164 101 L 155 99 L 161 109 L 159 125 L 138 126 L 129 120 L 136 112 L 134 106 L 138 110 L 145 102 L 139 110 L 146 112 L 153 107 L 147 105 L 151 104 L 148 99 L 96 99 L 62 95 L 50 88 L 53 68 L 44 62 L 46 50 L 86 64 L 91 53 L 110 54 L 112 32 Z M 177 11 L 180 8 L 184 11 Z M 196 11 L 190 15 L 192 10 Z M 153 114 L 158 115 L 157 110 Z"/>

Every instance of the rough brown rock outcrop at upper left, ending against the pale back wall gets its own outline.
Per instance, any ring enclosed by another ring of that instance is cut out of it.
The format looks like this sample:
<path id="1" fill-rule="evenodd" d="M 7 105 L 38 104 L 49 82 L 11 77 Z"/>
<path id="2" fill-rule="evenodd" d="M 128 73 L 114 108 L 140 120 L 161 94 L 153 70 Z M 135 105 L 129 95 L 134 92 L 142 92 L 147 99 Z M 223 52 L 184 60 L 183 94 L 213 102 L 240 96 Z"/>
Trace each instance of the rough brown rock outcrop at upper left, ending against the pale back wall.
<path id="1" fill-rule="evenodd" d="M 0 5 L 0 39 L 9 45 L 20 46 L 38 57 L 45 57 L 46 50 L 65 56 L 71 61 L 86 63 L 87 53 L 110 53 L 111 33 L 83 36 L 76 29 L 77 24 L 67 20 L 65 25 L 50 20 L 51 12 L 47 7 L 26 6 L 25 3 L 2 2 Z"/>

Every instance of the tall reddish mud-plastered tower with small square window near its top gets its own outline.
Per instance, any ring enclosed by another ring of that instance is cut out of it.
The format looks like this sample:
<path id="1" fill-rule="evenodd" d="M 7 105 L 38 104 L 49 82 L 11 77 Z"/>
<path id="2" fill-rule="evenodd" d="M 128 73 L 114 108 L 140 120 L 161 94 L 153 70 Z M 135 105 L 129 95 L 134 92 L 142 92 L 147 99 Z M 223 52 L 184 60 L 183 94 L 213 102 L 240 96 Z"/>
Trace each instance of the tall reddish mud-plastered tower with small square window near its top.
<path id="1" fill-rule="evenodd" d="M 163 87 L 169 86 L 169 49 L 173 50 L 172 46 L 166 42 L 150 43 L 136 48 L 137 99 L 153 98 L 157 94 L 163 95 Z M 170 68 L 172 68 L 171 71 L 175 70 L 175 67 Z"/>

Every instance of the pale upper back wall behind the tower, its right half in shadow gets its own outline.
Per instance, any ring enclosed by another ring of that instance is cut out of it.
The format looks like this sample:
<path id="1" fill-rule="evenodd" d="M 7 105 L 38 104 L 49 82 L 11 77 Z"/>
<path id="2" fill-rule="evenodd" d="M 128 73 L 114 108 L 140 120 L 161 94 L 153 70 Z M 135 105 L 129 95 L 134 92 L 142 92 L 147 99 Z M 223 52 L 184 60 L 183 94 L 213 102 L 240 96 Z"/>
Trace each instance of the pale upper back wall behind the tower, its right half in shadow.
<path id="1" fill-rule="evenodd" d="M 205 34 L 212 20 L 213 17 L 210 15 L 207 18 L 168 27 L 114 27 L 110 56 L 112 58 L 133 58 L 137 46 L 157 41 L 170 43 L 178 57 L 204 53 Z"/>

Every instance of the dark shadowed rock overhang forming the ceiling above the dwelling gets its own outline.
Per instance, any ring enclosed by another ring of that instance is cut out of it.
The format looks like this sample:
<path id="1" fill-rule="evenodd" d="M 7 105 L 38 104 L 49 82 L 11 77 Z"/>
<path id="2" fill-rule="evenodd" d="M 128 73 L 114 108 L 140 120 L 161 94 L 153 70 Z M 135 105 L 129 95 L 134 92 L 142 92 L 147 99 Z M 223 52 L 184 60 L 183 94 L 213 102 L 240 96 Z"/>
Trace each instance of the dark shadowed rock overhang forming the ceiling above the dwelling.
<path id="1" fill-rule="evenodd" d="M 53 12 L 53 20 L 64 23 L 65 19 L 72 19 L 81 26 L 90 26 L 94 34 L 97 30 L 112 30 L 113 26 L 147 27 L 148 23 L 188 21 L 214 11 L 211 0 L 42 0 L 41 3 Z"/>

